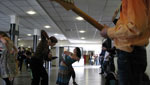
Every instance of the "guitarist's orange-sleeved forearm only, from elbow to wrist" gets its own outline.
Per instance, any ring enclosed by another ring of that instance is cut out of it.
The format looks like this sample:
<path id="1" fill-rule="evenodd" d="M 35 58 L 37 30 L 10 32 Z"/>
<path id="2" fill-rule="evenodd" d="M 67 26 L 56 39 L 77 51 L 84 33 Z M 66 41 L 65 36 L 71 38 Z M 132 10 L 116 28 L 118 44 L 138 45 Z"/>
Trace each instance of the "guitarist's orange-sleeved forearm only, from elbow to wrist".
<path id="1" fill-rule="evenodd" d="M 128 23 L 128 24 L 120 24 L 116 27 L 109 28 L 107 30 L 107 35 L 114 39 L 114 38 L 122 38 L 122 39 L 131 39 L 134 37 L 140 36 L 142 33 L 143 29 L 137 29 L 137 26 Z"/>

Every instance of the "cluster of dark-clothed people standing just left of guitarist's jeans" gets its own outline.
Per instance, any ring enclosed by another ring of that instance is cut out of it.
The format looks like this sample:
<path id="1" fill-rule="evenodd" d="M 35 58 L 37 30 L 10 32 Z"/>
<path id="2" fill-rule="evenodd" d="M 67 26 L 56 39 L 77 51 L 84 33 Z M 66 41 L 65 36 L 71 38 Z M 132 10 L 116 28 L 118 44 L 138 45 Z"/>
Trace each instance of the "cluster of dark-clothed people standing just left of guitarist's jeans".
<path id="1" fill-rule="evenodd" d="M 100 74 L 108 74 L 110 72 L 115 73 L 115 64 L 114 64 L 114 57 L 116 56 L 116 49 L 108 48 L 106 43 L 102 45 L 102 51 L 100 54 L 100 65 L 101 65 L 101 72 Z"/>

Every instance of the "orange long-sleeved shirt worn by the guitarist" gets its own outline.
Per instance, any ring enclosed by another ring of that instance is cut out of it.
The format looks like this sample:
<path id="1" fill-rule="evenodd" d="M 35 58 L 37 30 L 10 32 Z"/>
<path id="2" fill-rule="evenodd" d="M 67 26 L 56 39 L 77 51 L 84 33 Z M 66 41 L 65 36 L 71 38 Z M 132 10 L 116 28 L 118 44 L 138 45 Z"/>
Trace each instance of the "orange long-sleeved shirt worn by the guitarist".
<path id="1" fill-rule="evenodd" d="M 120 19 L 107 34 L 117 49 L 132 52 L 131 46 L 144 46 L 150 37 L 150 0 L 122 0 Z"/>

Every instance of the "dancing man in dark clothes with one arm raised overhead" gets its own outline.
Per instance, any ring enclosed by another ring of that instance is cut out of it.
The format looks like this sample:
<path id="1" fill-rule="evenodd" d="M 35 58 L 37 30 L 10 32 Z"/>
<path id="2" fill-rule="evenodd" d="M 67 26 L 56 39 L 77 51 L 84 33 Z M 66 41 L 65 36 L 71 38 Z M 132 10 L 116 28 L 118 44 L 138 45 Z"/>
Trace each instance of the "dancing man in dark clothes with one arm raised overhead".
<path id="1" fill-rule="evenodd" d="M 39 85 L 41 80 L 41 85 L 48 85 L 48 74 L 43 67 L 44 60 L 48 59 L 49 46 L 53 47 L 57 43 L 57 39 L 54 36 L 48 37 L 44 30 L 41 30 L 41 41 L 36 48 L 36 52 L 31 58 L 31 70 L 32 70 L 32 84 Z M 41 78 L 41 79 L 40 79 Z"/>

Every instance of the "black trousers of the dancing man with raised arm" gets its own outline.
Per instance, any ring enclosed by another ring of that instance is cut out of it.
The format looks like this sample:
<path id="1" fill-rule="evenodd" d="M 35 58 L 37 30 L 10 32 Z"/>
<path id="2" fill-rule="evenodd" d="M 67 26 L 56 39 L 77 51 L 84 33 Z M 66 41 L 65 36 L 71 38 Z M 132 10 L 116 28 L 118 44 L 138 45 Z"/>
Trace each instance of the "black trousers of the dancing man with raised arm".
<path id="1" fill-rule="evenodd" d="M 41 80 L 41 85 L 48 85 L 48 74 L 43 66 L 43 63 L 36 59 L 31 59 L 31 70 L 32 70 L 32 84 L 39 85 Z"/>

